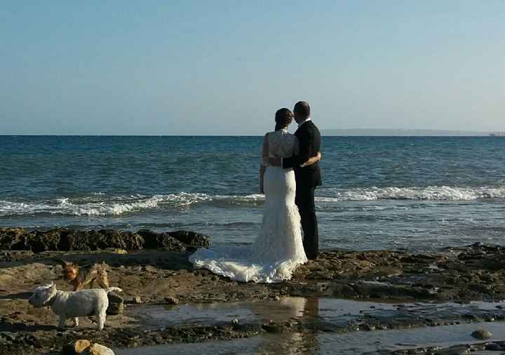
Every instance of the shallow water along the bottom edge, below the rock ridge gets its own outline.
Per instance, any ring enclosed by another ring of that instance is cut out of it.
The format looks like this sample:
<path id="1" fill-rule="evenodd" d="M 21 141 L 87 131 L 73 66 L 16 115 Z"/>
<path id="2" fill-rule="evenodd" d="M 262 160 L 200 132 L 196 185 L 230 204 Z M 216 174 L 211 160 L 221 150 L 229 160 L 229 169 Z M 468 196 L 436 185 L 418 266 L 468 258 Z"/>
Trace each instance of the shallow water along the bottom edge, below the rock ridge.
<path id="1" fill-rule="evenodd" d="M 450 347 L 454 344 L 476 343 L 473 330 L 486 328 L 495 335 L 505 335 L 505 323 L 475 323 L 408 330 L 380 330 L 375 332 L 292 333 L 264 335 L 227 342 L 174 344 L 141 349 L 114 349 L 117 355 L 172 355 L 172 354 L 386 354 L 398 349 L 417 347 Z M 503 340 L 492 337 L 491 340 Z M 501 354 L 476 351 L 471 354 Z"/>

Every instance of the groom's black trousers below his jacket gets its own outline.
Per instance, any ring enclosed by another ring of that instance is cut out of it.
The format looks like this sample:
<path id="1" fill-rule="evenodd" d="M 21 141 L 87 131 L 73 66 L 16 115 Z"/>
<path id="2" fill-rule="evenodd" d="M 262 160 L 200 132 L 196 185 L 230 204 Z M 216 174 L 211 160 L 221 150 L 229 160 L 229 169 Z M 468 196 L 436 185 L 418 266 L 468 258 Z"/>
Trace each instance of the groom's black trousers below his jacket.
<path id="1" fill-rule="evenodd" d="M 311 260 L 316 259 L 319 253 L 319 234 L 316 217 L 316 203 L 314 192 L 316 187 L 297 185 L 295 203 L 302 217 L 304 231 L 305 254 Z"/>

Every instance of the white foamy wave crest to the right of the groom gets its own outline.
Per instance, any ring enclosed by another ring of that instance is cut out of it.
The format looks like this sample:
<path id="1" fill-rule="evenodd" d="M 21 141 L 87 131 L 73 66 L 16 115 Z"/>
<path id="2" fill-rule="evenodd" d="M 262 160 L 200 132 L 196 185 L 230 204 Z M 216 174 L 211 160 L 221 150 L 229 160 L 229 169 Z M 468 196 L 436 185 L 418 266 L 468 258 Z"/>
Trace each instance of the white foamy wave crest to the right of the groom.
<path id="1" fill-rule="evenodd" d="M 417 201 L 473 201 L 503 199 L 505 187 L 369 187 L 356 189 L 323 189 L 316 198 L 319 202 L 417 200 Z"/>

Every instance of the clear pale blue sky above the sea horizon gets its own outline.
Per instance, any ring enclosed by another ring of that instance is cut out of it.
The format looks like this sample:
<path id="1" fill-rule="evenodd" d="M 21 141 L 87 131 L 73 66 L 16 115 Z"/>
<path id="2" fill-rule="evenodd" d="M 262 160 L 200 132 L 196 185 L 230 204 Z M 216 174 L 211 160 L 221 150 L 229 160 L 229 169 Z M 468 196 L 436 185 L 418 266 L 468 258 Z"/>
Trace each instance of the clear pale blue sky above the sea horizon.
<path id="1" fill-rule="evenodd" d="M 0 134 L 505 130 L 505 0 L 0 1 Z"/>

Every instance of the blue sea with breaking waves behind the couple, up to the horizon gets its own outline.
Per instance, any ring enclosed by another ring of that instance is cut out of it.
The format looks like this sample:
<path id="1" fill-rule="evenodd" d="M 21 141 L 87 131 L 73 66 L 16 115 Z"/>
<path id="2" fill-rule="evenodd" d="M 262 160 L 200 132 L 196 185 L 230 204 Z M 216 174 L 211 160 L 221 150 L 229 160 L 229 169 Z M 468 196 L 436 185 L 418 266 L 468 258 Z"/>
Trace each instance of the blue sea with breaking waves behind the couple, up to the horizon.
<path id="1" fill-rule="evenodd" d="M 0 227 L 255 239 L 262 137 L 0 135 Z M 323 137 L 321 248 L 505 244 L 505 138 Z"/>

